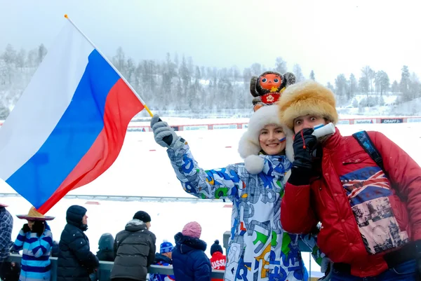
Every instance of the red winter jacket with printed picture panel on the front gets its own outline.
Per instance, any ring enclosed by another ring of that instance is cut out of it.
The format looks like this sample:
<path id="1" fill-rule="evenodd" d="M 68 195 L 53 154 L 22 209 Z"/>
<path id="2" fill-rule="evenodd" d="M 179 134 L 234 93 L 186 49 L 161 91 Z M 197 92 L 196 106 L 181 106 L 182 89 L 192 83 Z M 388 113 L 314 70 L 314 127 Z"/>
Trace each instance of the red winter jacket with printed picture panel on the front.
<path id="1" fill-rule="evenodd" d="M 321 221 L 321 251 L 359 277 L 387 270 L 385 253 L 421 239 L 421 167 L 382 133 L 368 135 L 394 189 L 356 139 L 337 128 L 323 144 L 321 177 L 287 183 L 281 203 L 285 231 L 309 233 Z"/>

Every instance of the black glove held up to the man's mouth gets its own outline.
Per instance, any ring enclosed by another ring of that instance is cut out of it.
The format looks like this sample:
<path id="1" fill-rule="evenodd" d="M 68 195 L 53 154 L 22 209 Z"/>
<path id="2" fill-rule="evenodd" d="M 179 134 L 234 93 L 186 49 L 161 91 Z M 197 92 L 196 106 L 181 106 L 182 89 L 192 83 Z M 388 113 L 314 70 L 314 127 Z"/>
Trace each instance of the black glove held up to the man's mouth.
<path id="1" fill-rule="evenodd" d="M 317 138 L 312 135 L 313 132 L 312 128 L 307 128 L 295 134 L 293 167 L 312 169 L 312 153 L 317 144 Z"/>

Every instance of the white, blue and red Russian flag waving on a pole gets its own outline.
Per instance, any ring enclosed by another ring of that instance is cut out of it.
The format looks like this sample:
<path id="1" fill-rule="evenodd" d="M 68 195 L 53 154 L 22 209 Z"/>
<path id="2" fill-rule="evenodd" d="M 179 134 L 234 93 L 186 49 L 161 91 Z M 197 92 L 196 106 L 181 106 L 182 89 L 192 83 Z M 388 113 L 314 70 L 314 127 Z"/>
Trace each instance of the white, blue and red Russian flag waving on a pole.
<path id="1" fill-rule="evenodd" d="M 45 214 L 116 160 L 145 108 L 69 20 L 0 129 L 0 178 Z"/>

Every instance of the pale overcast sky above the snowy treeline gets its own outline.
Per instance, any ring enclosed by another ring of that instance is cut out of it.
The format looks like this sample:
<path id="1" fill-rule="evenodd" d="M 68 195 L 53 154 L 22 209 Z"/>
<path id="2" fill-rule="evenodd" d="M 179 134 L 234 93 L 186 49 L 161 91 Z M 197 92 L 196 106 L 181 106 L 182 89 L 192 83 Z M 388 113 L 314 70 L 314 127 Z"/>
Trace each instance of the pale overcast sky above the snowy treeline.
<path id="1" fill-rule="evenodd" d="M 377 0 L 0 0 L 0 50 L 46 47 L 67 13 L 108 56 L 121 46 L 135 60 L 167 52 L 195 64 L 273 67 L 283 57 L 322 83 L 368 64 L 400 80 L 401 67 L 421 76 L 419 1 Z"/>

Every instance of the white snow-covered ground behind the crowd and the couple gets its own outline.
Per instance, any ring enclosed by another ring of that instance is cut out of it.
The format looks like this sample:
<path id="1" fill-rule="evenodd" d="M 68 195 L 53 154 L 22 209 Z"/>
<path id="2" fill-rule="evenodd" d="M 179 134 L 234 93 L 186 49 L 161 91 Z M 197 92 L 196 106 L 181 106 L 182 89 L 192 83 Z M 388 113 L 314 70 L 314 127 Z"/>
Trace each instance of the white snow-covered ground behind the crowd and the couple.
<path id="1" fill-rule="evenodd" d="M 163 117 L 165 121 L 166 118 Z M 173 123 L 170 121 L 169 123 Z M 401 124 L 362 124 L 338 125 L 342 135 L 352 135 L 359 130 L 377 130 L 399 144 L 417 163 L 421 164 L 421 123 Z M 205 169 L 225 167 L 240 162 L 237 153 L 238 141 L 245 130 L 203 130 L 179 132 L 189 142 L 192 153 L 199 165 Z M 4 181 L 0 182 L 0 193 L 15 193 Z M 91 184 L 72 191 L 70 194 L 119 195 L 119 196 L 178 196 L 189 197 L 182 190 L 171 167 L 166 149 L 154 142 L 152 132 L 128 132 L 123 149 L 112 167 Z M 19 197 L 0 198 L 10 205 L 9 212 L 25 214 L 29 203 Z M 152 217 L 151 231 L 156 234 L 156 245 L 163 240 L 174 242 L 173 236 L 181 231 L 189 221 L 198 221 L 203 227 L 202 238 L 208 243 L 206 254 L 213 240 L 222 244 L 222 235 L 229 231 L 232 208 L 227 203 L 201 200 L 199 203 L 187 202 L 121 202 L 101 200 L 99 205 L 87 204 L 88 200 L 63 199 L 48 212 L 55 216 L 51 228 L 55 240 L 65 226 L 65 211 L 70 205 L 83 205 L 88 209 L 86 232 L 90 238 L 91 249 L 98 250 L 98 240 L 102 233 L 115 235 L 138 210 L 149 212 Z M 13 238 L 18 235 L 22 221 L 14 217 Z M 308 254 L 303 254 L 309 268 Z M 312 262 L 312 270 L 319 266 Z"/>

